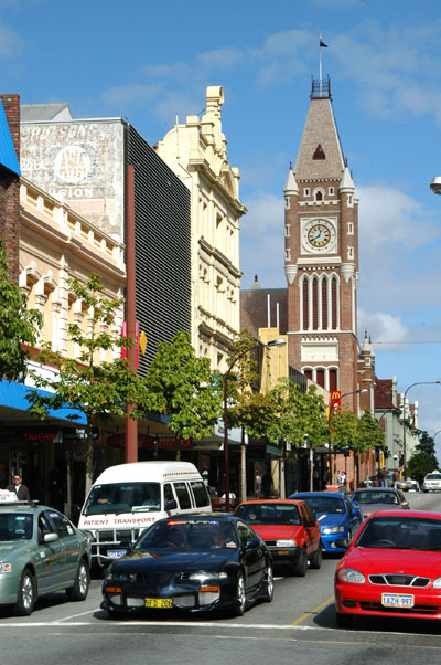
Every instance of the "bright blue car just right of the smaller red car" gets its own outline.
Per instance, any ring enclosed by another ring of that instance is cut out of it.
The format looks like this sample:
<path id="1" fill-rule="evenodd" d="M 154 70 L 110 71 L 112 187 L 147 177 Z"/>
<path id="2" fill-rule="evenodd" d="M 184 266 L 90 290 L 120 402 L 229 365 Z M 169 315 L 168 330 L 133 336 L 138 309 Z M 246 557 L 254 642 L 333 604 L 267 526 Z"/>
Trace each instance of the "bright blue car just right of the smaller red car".
<path id="1" fill-rule="evenodd" d="M 335 545 L 337 538 L 348 541 L 363 522 L 363 513 L 356 502 L 340 492 L 298 492 L 289 498 L 303 499 L 315 513 L 325 552 L 344 552 Z"/>

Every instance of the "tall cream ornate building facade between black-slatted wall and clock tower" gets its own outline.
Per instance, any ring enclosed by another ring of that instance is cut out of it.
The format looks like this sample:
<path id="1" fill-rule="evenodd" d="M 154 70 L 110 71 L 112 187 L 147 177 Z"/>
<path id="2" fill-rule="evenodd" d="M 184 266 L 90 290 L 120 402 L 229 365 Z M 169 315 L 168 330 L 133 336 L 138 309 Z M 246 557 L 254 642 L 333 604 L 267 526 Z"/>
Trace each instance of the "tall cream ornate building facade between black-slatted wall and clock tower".
<path id="1" fill-rule="evenodd" d="M 202 118 L 176 122 L 155 147 L 191 191 L 192 345 L 219 372 L 239 334 L 239 219 L 246 212 L 239 170 L 228 161 L 223 104 L 223 88 L 208 86 Z"/>

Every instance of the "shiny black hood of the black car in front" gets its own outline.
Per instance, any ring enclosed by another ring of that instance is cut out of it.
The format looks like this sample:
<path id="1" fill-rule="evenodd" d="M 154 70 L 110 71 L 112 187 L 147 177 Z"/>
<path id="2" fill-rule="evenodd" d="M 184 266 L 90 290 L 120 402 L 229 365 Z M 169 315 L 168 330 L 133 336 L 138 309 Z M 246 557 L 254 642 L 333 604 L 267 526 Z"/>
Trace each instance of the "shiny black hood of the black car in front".
<path id="1" fill-rule="evenodd" d="M 149 552 L 135 551 L 111 564 L 112 570 L 149 569 L 157 571 L 179 570 L 182 572 L 193 570 L 217 570 L 238 560 L 238 549 L 214 549 L 207 551 L 184 549 L 179 552 L 172 550 L 152 550 Z"/>

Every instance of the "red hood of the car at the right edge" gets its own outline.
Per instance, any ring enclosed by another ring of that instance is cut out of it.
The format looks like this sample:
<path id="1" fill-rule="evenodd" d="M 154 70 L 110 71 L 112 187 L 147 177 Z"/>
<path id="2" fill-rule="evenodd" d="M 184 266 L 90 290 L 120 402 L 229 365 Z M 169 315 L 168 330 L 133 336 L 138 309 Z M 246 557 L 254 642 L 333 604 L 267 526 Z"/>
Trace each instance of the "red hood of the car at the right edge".
<path id="1" fill-rule="evenodd" d="M 434 571 L 441 570 L 441 552 L 354 547 L 343 558 L 341 566 L 355 568 L 365 574 L 401 573 L 433 577 Z"/>

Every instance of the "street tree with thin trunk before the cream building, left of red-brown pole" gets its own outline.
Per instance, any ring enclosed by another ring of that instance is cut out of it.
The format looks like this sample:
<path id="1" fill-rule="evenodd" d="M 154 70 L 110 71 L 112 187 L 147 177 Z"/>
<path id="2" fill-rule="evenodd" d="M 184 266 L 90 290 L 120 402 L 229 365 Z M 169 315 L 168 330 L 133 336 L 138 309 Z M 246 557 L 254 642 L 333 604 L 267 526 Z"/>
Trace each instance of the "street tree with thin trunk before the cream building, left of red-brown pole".
<path id="1" fill-rule="evenodd" d="M 80 413 L 85 415 L 87 494 L 94 479 L 93 429 L 103 420 L 127 418 L 127 404 L 133 405 L 131 418 L 143 418 L 148 402 L 142 381 L 129 369 L 128 360 L 121 357 L 121 349 L 128 349 L 133 340 L 109 331 L 122 300 L 107 298 L 96 274 L 84 283 L 71 279 L 67 284 L 72 296 L 79 299 L 88 313 L 87 331 L 77 324 L 67 326 L 69 340 L 79 349 L 75 358 L 54 351 L 50 342 L 42 345 L 37 360 L 55 368 L 56 373 L 47 377 L 34 371 L 35 389 L 30 389 L 28 400 L 30 410 L 41 420 L 46 418 L 49 410 L 66 407 L 77 411 L 69 416 L 73 422 Z M 112 359 L 103 361 L 100 356 L 107 351 Z M 43 394 L 36 389 L 50 392 Z"/>

